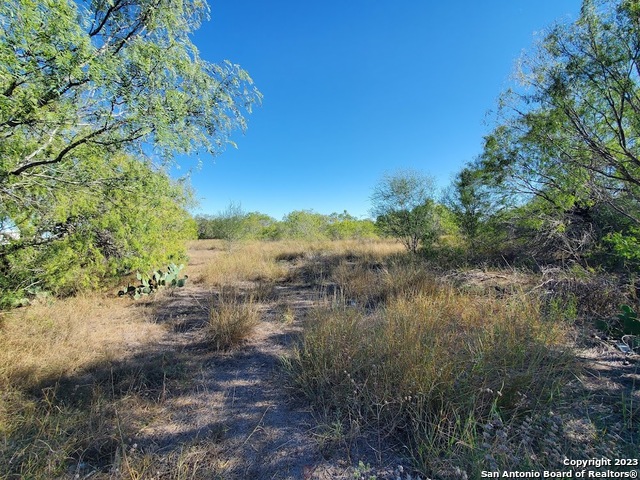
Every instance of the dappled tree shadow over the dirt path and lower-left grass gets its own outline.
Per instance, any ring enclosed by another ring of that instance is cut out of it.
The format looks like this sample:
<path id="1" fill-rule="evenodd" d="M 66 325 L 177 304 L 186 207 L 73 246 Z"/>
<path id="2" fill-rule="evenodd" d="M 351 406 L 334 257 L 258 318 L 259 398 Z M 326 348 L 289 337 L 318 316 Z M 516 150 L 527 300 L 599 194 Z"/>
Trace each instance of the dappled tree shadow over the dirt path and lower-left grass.
<path id="1" fill-rule="evenodd" d="M 287 285 L 279 292 L 297 302 L 298 313 L 311 306 L 309 289 Z M 160 343 L 48 378 L 27 392 L 46 411 L 6 439 L 15 450 L 0 455 L 7 478 L 21 477 L 20 464 L 29 461 L 22 450 L 34 443 L 38 419 L 53 415 L 60 438 L 37 438 L 51 450 L 64 444 L 70 476 L 121 478 L 125 466 L 151 472 L 151 462 L 158 465 L 153 475 L 163 478 L 163 470 L 176 468 L 162 466 L 167 458 L 184 463 L 205 452 L 197 457 L 195 478 L 303 478 L 322 457 L 309 435 L 311 415 L 283 388 L 281 358 L 298 326 L 278 321 L 272 302 L 248 343 L 215 352 L 206 335 L 211 298 L 212 292 L 192 287 L 158 299 L 155 321 L 167 326 Z M 239 291 L 239 298 L 246 295 Z M 132 314 L 137 308 L 132 304 Z"/>

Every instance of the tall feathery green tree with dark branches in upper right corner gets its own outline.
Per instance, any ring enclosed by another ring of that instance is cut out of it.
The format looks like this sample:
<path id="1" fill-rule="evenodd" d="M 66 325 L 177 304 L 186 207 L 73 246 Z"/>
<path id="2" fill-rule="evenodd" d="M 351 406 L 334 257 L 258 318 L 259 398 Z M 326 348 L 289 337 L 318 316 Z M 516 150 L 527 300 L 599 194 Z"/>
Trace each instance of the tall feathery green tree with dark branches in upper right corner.
<path id="1" fill-rule="evenodd" d="M 599 212 L 617 212 L 616 231 L 640 225 L 639 39 L 637 2 L 585 0 L 523 58 L 521 88 L 504 95 L 485 141 L 489 183 L 516 206 L 538 198 L 541 241 L 575 258 L 606 235 Z"/>

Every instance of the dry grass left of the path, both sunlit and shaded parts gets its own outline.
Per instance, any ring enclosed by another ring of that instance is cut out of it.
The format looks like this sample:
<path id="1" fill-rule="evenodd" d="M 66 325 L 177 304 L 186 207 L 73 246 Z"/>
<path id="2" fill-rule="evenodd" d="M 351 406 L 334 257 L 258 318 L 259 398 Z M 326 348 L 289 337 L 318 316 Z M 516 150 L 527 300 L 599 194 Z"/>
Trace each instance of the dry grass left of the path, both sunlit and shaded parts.
<path id="1" fill-rule="evenodd" d="M 132 343 L 166 332 L 157 300 L 92 295 L 3 314 L 0 478 L 219 478 L 215 444 L 160 455 L 129 440 L 185 373 L 175 356 L 132 358 Z"/>

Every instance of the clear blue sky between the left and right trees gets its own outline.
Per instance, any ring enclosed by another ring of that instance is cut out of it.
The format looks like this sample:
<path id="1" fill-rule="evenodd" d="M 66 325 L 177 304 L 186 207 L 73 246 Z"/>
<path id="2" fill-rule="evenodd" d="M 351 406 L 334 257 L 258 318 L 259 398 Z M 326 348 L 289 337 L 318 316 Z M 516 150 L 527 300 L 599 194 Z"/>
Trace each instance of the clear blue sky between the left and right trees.
<path id="1" fill-rule="evenodd" d="M 579 0 L 215 0 L 194 37 L 263 93 L 245 135 L 192 175 L 196 213 L 230 202 L 368 216 L 388 171 L 446 186 L 482 148 L 489 112 L 536 32 Z M 539 37 L 539 35 L 538 35 Z M 193 162 L 183 161 L 183 172 Z"/>

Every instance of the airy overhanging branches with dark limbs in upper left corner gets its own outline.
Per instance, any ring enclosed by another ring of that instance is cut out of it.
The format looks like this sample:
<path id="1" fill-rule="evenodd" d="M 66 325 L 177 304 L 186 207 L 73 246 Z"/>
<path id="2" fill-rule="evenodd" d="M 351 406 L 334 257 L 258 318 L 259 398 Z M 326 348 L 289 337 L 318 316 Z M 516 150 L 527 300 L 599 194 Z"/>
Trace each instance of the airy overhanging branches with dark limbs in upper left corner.
<path id="1" fill-rule="evenodd" d="M 215 153 L 244 128 L 259 94 L 237 65 L 199 57 L 189 35 L 207 15 L 201 0 L 3 2 L 3 203 L 88 153 Z"/>

